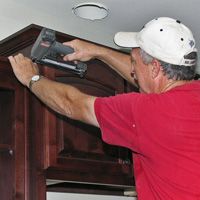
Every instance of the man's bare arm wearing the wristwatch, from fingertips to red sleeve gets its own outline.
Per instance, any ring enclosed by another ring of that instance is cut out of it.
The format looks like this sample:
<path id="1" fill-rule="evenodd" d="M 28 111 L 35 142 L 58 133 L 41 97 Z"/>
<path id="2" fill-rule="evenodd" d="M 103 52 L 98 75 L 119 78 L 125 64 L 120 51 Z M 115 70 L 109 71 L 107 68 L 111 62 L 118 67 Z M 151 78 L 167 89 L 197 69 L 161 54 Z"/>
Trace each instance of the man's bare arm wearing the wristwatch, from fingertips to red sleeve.
<path id="1" fill-rule="evenodd" d="M 31 77 L 38 74 L 37 65 L 22 54 L 15 57 L 10 56 L 9 60 L 17 79 L 28 87 Z M 96 97 L 86 95 L 73 86 L 58 83 L 45 77 L 35 82 L 31 91 L 56 112 L 99 127 L 94 113 Z"/>

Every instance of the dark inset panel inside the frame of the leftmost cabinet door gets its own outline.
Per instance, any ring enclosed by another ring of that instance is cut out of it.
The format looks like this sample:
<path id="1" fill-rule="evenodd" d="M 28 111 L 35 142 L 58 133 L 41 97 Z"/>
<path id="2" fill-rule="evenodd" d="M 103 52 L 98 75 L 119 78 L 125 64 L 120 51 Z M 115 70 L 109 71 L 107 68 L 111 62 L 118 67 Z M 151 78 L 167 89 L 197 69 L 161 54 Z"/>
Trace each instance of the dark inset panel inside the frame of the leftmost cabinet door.
<path id="1" fill-rule="evenodd" d="M 4 200 L 13 199 L 14 157 L 12 149 L 14 92 L 0 87 L 0 193 Z"/>

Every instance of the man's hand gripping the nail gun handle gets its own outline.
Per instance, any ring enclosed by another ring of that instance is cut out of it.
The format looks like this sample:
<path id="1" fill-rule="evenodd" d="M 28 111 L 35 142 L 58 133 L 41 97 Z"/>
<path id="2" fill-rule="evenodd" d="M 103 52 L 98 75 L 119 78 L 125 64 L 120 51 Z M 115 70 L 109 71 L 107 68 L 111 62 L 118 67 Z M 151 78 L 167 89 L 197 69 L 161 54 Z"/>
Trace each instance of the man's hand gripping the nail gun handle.
<path id="1" fill-rule="evenodd" d="M 101 48 L 95 44 L 85 42 L 82 40 L 72 40 L 70 42 L 63 43 L 66 46 L 72 47 L 74 53 L 64 56 L 65 61 L 88 61 L 95 58 Z"/>

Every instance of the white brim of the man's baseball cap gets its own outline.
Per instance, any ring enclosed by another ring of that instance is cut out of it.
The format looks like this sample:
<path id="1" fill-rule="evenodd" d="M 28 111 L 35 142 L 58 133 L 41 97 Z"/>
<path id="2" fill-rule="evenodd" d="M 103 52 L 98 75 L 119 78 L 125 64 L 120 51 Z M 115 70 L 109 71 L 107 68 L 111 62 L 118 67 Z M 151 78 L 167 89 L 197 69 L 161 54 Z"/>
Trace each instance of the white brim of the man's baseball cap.
<path id="1" fill-rule="evenodd" d="M 120 47 L 139 47 L 138 32 L 118 32 L 114 36 L 114 42 Z"/>

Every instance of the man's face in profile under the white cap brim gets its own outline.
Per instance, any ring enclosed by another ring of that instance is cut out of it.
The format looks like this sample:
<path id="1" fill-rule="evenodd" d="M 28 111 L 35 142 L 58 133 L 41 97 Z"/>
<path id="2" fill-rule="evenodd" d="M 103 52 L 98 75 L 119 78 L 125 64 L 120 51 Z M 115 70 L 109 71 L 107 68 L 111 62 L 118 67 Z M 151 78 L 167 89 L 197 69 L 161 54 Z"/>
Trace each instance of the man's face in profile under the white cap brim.
<path id="1" fill-rule="evenodd" d="M 131 61 L 132 61 L 131 73 L 133 78 L 135 79 L 135 82 L 138 83 L 140 92 L 150 93 L 151 92 L 150 86 L 152 83 L 152 79 L 150 78 L 151 77 L 150 66 L 145 65 L 143 63 L 139 48 L 132 49 Z"/>

